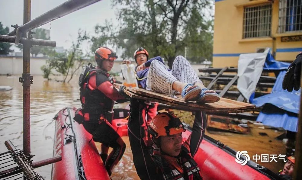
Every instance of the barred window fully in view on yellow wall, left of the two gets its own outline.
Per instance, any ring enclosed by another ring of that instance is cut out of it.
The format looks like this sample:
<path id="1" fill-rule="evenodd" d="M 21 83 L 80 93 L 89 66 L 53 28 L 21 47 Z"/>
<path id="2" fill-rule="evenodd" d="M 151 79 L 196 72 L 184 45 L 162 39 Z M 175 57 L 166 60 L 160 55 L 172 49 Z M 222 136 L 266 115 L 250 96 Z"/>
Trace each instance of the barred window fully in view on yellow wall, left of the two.
<path id="1" fill-rule="evenodd" d="M 271 4 L 244 8 L 243 38 L 271 35 Z"/>

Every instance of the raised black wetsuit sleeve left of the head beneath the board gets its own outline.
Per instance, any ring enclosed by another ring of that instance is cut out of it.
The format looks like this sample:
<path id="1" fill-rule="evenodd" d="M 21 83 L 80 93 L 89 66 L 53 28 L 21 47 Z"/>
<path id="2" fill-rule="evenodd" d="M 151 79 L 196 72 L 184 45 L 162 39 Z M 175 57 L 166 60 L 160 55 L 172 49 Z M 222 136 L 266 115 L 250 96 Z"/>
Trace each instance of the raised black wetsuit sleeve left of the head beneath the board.
<path id="1" fill-rule="evenodd" d="M 142 101 L 136 99 L 131 99 L 130 101 L 131 109 L 128 121 L 128 136 L 137 175 L 143 180 L 153 180 L 156 179 L 156 166 L 142 139 L 144 134 L 141 127 L 143 118 L 140 113 L 143 110 L 142 103 Z"/>

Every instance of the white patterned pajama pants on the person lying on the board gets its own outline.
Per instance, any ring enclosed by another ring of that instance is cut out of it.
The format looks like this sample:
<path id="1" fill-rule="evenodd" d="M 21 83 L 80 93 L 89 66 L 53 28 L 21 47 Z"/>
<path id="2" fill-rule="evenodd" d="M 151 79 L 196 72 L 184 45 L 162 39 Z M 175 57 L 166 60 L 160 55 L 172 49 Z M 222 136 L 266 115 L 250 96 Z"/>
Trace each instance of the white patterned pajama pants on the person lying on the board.
<path id="1" fill-rule="evenodd" d="M 194 84 L 201 82 L 191 64 L 184 56 L 177 56 L 172 65 L 172 71 L 158 60 L 153 60 L 149 67 L 146 89 L 174 97 L 177 91 L 172 90 L 175 81 Z"/>

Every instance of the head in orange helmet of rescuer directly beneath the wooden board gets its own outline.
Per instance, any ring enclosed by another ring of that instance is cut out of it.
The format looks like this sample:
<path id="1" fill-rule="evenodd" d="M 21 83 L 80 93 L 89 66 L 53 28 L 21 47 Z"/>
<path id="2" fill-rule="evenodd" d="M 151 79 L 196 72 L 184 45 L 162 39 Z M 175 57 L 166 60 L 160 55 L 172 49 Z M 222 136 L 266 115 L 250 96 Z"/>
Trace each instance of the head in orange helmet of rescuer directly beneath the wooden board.
<path id="1" fill-rule="evenodd" d="M 178 156 L 182 148 L 182 132 L 185 128 L 180 119 L 168 113 L 159 113 L 150 121 L 148 131 L 162 153 Z"/>

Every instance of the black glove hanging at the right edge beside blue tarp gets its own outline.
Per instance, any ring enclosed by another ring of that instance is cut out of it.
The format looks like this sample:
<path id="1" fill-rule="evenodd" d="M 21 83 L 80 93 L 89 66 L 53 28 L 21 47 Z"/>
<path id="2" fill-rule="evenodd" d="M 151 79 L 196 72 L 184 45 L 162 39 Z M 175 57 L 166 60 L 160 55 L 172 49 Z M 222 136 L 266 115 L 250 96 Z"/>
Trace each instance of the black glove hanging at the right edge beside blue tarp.
<path id="1" fill-rule="evenodd" d="M 287 72 L 285 73 L 282 88 L 287 89 L 288 92 L 300 89 L 300 76 L 301 76 L 301 61 L 302 54 L 299 54 L 294 62 L 289 65 Z"/>

